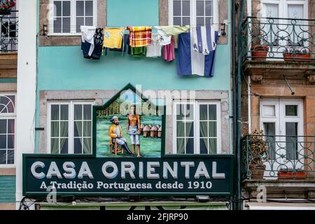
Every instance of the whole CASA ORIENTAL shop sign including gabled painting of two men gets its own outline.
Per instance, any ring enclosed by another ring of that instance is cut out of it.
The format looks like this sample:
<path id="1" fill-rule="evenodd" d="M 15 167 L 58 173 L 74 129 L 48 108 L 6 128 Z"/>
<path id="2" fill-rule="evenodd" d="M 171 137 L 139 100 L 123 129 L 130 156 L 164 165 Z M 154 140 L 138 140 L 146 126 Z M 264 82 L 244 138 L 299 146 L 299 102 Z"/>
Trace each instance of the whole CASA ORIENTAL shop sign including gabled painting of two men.
<path id="1" fill-rule="evenodd" d="M 85 154 L 23 155 L 24 195 L 232 195 L 233 155 L 165 153 L 165 111 L 126 85 L 93 106 L 92 146 L 75 123 Z"/>

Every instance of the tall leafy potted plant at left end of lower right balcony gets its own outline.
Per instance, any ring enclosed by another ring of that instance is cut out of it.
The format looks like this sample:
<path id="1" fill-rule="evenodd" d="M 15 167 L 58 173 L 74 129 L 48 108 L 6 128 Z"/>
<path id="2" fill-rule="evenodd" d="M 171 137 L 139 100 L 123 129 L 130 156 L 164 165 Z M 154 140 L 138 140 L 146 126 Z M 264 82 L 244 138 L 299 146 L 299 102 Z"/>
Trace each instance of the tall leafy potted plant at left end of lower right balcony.
<path id="1" fill-rule="evenodd" d="M 248 137 L 248 159 L 251 179 L 263 179 L 267 159 L 268 144 L 263 139 L 263 131 L 255 130 Z"/>

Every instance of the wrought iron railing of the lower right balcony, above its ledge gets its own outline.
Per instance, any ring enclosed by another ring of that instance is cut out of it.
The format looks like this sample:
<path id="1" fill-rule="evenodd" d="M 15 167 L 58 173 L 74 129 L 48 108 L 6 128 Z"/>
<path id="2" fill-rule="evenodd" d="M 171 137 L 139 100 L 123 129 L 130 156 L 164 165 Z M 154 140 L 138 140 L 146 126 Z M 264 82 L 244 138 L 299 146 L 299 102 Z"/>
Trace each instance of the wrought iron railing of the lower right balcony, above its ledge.
<path id="1" fill-rule="evenodd" d="M 315 179 L 315 137 L 246 135 L 243 179 Z"/>

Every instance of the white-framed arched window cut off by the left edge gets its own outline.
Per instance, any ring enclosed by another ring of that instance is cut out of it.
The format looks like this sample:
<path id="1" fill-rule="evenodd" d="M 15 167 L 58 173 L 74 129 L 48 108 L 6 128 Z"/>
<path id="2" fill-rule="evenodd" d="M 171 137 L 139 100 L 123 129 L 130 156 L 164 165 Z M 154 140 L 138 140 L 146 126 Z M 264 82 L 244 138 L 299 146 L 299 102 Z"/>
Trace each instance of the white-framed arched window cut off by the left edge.
<path id="1" fill-rule="evenodd" d="M 0 165 L 14 165 L 15 94 L 0 94 Z"/>

